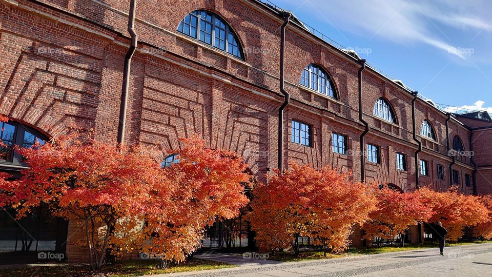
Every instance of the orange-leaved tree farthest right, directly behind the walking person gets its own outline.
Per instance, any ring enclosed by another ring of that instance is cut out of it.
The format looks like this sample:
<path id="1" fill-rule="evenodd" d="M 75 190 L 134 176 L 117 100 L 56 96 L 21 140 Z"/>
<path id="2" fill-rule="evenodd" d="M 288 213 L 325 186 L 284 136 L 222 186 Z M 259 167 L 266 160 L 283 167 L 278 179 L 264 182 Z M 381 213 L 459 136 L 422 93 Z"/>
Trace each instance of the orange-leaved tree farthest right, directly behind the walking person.
<path id="1" fill-rule="evenodd" d="M 488 210 L 478 196 L 464 195 L 456 190 L 438 192 L 429 188 L 421 188 L 417 193 L 422 202 L 433 210 L 428 222 L 442 222 L 448 231 L 446 238 L 449 241 L 461 238 L 465 227 L 474 227 L 488 219 Z"/>

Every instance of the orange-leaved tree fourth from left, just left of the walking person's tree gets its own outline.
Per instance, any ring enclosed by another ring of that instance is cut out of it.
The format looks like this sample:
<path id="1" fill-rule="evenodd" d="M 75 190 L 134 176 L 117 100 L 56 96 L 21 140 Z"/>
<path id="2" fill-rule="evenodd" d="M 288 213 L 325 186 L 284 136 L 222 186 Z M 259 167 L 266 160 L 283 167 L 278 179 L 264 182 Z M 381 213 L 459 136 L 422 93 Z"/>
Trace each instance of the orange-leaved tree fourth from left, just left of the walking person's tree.
<path id="1" fill-rule="evenodd" d="M 418 194 L 403 193 L 387 186 L 377 192 L 378 210 L 372 212 L 370 220 L 364 223 L 365 239 L 378 238 L 393 240 L 400 236 L 403 245 L 404 233 L 412 225 L 427 221 L 432 216 L 432 209 L 424 205 Z"/>

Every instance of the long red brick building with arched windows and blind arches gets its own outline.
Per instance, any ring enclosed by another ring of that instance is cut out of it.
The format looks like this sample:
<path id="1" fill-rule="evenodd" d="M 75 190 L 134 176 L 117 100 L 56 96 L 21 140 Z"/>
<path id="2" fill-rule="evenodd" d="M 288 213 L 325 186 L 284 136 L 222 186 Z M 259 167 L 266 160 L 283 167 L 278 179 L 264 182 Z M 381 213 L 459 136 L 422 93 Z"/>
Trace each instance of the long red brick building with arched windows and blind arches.
<path id="1" fill-rule="evenodd" d="M 99 140 L 116 140 L 129 5 L 0 1 L 0 113 L 12 118 L 13 134 L 2 133 L 4 141 L 46 139 L 72 124 L 94 128 Z M 125 143 L 178 149 L 179 137 L 199 133 L 211 147 L 240 153 L 264 181 L 279 158 L 285 23 L 285 165 L 351 169 L 356 179 L 365 175 L 402 191 L 432 184 L 492 193 L 488 114 L 446 113 L 297 18 L 286 23 L 286 16 L 256 0 L 137 1 Z M 0 168 L 15 175 L 22 160 L 12 153 Z M 14 228 L 2 216 L 0 228 Z M 36 228 L 43 236 L 44 227 Z M 76 227 L 68 228 L 66 251 L 76 261 L 82 254 L 73 245 Z M 67 232 L 51 231 L 46 249 L 63 249 Z M 18 244 L 17 235 L 0 241 Z"/>

